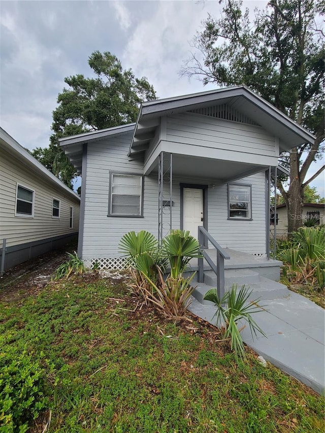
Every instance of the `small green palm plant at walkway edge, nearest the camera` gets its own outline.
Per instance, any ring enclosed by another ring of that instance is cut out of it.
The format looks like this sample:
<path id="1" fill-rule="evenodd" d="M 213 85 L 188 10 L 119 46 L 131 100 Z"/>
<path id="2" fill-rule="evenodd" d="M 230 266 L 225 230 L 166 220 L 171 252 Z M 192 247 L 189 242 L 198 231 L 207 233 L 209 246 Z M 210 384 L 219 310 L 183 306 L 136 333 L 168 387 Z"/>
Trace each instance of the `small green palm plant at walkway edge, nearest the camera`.
<path id="1" fill-rule="evenodd" d="M 241 359 L 245 358 L 245 346 L 240 334 L 241 330 L 246 326 L 238 328 L 239 320 L 243 319 L 249 325 L 251 336 L 257 336 L 257 332 L 266 337 L 265 332 L 257 325 L 251 314 L 263 311 L 264 308 L 258 305 L 259 298 L 248 302 L 252 290 L 245 285 L 237 290 L 237 285 L 233 284 L 229 291 L 226 291 L 220 299 L 216 288 L 212 288 L 206 292 L 204 299 L 211 301 L 217 307 L 214 315 L 217 324 L 223 322 L 221 326 L 223 330 L 223 338 L 231 340 L 231 348 L 234 350 L 238 362 L 238 356 Z"/>

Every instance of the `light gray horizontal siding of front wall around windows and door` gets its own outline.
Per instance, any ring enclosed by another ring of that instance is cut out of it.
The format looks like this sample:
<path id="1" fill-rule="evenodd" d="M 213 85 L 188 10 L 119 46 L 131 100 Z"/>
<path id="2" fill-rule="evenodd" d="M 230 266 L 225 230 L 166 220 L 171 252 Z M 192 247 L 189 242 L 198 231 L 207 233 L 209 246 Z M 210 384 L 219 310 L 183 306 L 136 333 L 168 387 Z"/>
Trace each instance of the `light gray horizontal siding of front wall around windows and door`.
<path id="1" fill-rule="evenodd" d="M 123 139 L 121 139 L 123 137 Z M 108 217 L 109 171 L 143 173 L 139 161 L 128 161 L 127 150 L 132 139 L 124 134 L 117 141 L 106 139 L 88 146 L 86 199 L 82 257 L 84 259 L 117 257 L 121 237 L 130 230 L 146 229 L 157 236 L 158 182 L 156 175 L 144 179 L 143 218 Z M 193 183 L 193 179 L 173 178 L 173 228 L 180 227 L 180 183 Z M 229 221 L 227 186 L 209 187 L 208 224 L 212 236 L 224 247 L 250 253 L 265 253 L 265 175 L 250 176 L 252 184 L 253 220 Z M 209 184 L 196 179 L 195 183 Z M 169 199 L 166 193 L 166 199 Z M 169 222 L 166 215 L 164 221 Z"/>

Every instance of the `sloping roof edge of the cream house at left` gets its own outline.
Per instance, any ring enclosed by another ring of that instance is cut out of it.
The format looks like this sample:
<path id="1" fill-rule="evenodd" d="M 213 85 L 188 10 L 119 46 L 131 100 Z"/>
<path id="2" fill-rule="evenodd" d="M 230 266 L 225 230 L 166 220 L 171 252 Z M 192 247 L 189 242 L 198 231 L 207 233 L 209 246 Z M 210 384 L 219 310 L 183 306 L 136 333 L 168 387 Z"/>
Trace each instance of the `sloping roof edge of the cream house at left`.
<path id="1" fill-rule="evenodd" d="M 8 132 L 0 127 L 0 147 L 3 147 L 11 155 L 15 156 L 19 161 L 26 165 L 34 173 L 37 173 L 48 182 L 60 188 L 62 192 L 69 194 L 70 197 L 77 199 L 80 202 L 80 197 L 67 185 L 61 182 L 56 176 L 53 175 L 47 168 L 41 164 L 34 156 L 31 156 L 16 140 L 14 140 Z"/>

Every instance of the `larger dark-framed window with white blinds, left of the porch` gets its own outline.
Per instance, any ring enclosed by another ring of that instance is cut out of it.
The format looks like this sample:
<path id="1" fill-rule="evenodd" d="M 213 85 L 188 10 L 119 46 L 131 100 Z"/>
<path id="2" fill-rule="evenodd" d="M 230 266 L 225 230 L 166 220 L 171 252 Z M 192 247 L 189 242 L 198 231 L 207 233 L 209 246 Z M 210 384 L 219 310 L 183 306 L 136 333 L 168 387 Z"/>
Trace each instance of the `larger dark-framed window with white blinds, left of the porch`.
<path id="1" fill-rule="evenodd" d="M 143 176 L 110 174 L 109 216 L 141 217 Z"/>

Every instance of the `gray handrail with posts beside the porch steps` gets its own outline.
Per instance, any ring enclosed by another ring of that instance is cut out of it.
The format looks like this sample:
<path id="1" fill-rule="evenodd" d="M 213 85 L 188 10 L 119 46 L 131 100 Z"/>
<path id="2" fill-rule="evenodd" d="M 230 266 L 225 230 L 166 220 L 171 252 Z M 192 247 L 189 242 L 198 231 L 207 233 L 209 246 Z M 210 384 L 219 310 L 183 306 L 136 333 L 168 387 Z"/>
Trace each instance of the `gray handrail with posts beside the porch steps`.
<path id="1" fill-rule="evenodd" d="M 213 262 L 209 254 L 203 249 L 203 246 L 206 245 L 207 239 L 217 251 L 216 264 Z M 202 255 L 217 276 L 217 292 L 219 299 L 221 299 L 224 295 L 224 260 L 229 260 L 230 256 L 224 251 L 223 248 L 220 247 L 216 240 L 212 238 L 210 233 L 203 226 L 198 227 L 198 240 L 200 246 L 202 247 Z M 198 258 L 198 267 L 198 283 L 204 283 L 203 257 Z"/>

